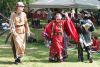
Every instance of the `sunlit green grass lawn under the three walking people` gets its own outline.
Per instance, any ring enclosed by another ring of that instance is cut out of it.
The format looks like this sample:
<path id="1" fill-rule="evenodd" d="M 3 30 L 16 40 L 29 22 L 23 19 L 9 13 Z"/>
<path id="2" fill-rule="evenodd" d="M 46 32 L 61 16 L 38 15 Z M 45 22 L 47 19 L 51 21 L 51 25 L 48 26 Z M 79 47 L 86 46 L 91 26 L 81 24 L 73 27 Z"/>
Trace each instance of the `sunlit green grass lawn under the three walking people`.
<path id="1" fill-rule="evenodd" d="M 100 36 L 100 28 L 93 34 Z M 77 49 L 68 48 L 68 59 L 62 63 L 52 63 L 48 61 L 49 49 L 45 47 L 41 36 L 41 29 L 32 29 L 35 33 L 37 43 L 27 43 L 26 55 L 22 58 L 22 64 L 14 64 L 10 43 L 4 43 L 6 35 L 0 37 L 0 67 L 100 67 L 100 53 L 93 53 L 93 63 L 88 63 L 86 53 L 85 61 L 77 61 Z M 97 33 L 98 32 L 98 33 Z"/>

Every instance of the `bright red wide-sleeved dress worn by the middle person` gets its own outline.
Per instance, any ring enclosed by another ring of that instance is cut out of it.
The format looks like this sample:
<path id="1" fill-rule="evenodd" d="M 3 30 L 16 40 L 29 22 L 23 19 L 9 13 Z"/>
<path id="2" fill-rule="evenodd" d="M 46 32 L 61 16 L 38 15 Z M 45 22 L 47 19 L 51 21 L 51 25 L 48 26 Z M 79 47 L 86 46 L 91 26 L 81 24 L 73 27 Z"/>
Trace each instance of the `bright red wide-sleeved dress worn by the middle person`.
<path id="1" fill-rule="evenodd" d="M 51 40 L 50 46 L 50 59 L 54 61 L 61 61 L 63 58 L 64 50 L 64 34 L 71 35 L 75 41 L 78 41 L 78 34 L 72 23 L 67 23 L 66 20 L 61 20 L 57 23 L 56 21 L 51 21 L 44 29 L 43 34 L 48 40 Z"/>

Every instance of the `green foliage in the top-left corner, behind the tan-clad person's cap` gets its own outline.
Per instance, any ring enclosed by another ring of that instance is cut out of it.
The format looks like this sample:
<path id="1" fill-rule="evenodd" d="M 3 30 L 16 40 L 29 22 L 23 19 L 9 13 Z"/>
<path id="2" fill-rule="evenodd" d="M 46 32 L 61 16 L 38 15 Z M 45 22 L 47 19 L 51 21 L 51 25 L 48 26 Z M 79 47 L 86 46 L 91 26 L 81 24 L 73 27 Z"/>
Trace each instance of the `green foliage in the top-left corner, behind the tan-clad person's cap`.
<path id="1" fill-rule="evenodd" d="M 26 5 L 35 0 L 0 0 L 0 12 L 5 16 L 9 16 L 11 11 L 15 9 L 16 2 L 22 1 Z"/>

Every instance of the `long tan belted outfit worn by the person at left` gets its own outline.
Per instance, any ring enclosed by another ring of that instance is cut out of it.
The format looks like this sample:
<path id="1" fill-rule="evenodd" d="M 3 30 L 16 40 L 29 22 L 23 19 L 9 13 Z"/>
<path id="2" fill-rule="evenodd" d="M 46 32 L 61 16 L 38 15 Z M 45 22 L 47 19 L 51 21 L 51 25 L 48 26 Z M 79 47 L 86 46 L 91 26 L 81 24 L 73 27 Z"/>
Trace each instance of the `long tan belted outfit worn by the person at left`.
<path id="1" fill-rule="evenodd" d="M 11 35 L 11 45 L 14 58 L 18 58 L 24 56 L 26 44 L 25 34 L 30 32 L 30 30 L 24 12 L 21 12 L 19 15 L 14 12 L 11 16 L 13 21 L 12 23 L 14 23 L 15 26 L 15 32 Z"/>

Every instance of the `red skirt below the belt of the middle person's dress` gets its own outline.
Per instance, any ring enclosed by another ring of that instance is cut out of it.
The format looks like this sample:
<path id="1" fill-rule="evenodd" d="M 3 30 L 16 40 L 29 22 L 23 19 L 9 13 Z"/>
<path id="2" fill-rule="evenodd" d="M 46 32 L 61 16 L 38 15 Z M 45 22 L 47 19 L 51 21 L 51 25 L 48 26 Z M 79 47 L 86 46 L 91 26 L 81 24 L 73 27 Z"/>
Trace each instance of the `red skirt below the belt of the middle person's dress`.
<path id="1" fill-rule="evenodd" d="M 64 49 L 64 41 L 62 35 L 53 35 L 50 47 L 50 58 L 60 58 Z"/>

